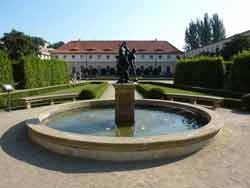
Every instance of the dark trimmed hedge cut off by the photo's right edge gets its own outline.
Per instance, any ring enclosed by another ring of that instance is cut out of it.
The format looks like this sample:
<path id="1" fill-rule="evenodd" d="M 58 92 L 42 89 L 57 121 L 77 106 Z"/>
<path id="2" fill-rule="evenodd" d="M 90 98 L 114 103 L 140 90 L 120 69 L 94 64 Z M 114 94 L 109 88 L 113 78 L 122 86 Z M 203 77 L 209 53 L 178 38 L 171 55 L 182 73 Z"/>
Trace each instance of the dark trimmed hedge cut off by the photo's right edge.
<path id="1" fill-rule="evenodd" d="M 250 51 L 243 51 L 233 58 L 230 88 L 234 91 L 250 92 Z"/>

